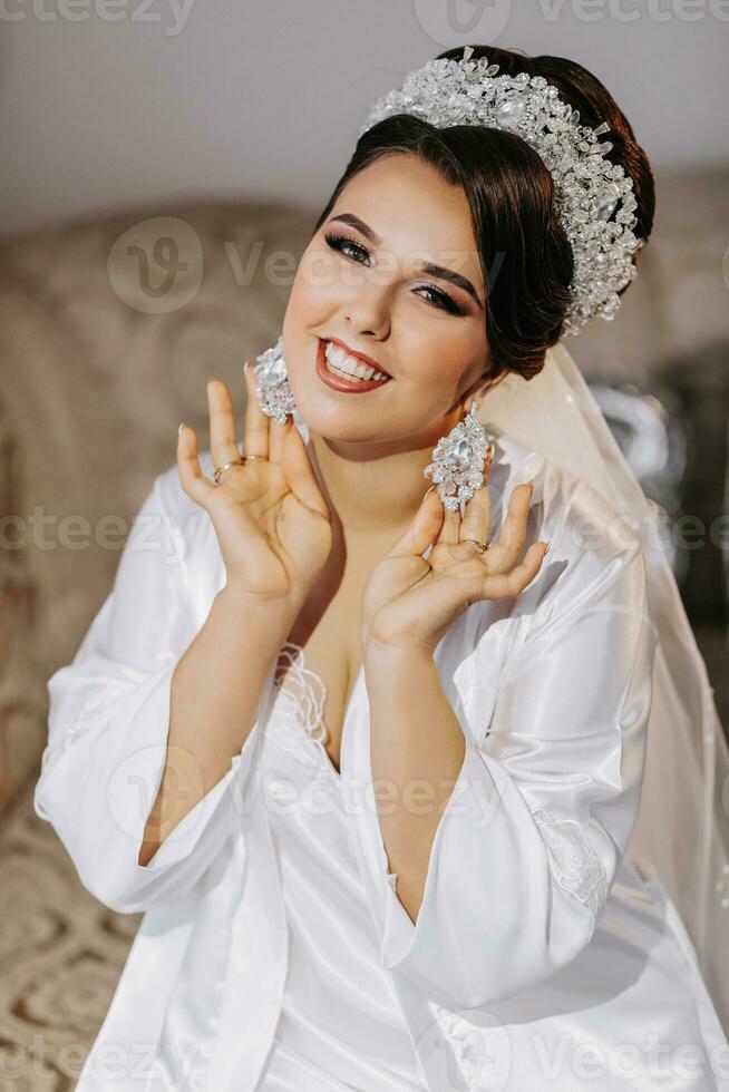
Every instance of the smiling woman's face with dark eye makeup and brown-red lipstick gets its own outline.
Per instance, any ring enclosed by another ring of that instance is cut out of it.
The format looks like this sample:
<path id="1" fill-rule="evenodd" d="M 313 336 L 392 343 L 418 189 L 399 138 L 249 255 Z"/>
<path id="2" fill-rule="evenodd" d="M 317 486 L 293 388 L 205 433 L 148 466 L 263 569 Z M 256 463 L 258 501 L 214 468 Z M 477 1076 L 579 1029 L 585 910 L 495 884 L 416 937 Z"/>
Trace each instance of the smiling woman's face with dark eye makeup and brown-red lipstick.
<path id="1" fill-rule="evenodd" d="M 297 271 L 282 331 L 297 408 L 341 443 L 425 446 L 479 389 L 485 328 L 463 189 L 416 156 L 378 159 L 347 184 Z M 342 380 L 321 371 L 331 340 L 391 378 L 337 389 Z"/>

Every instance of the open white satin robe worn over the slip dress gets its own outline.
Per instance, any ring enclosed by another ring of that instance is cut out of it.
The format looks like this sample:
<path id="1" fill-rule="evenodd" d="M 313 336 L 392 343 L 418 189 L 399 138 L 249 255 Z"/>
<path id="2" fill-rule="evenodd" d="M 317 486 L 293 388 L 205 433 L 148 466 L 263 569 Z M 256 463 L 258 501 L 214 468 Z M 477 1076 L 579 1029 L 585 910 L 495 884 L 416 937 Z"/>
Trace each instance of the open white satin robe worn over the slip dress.
<path id="1" fill-rule="evenodd" d="M 201 461 L 212 475 L 210 452 Z M 490 472 L 492 537 L 531 478 L 527 544 L 552 544 L 541 573 L 516 599 L 469 607 L 436 650 L 466 753 L 415 925 L 372 803 L 363 671 L 347 710 L 342 782 L 381 967 L 431 1092 L 729 1089 L 729 1047 L 682 923 L 625 856 L 655 640 L 643 557 L 584 481 L 507 437 Z M 48 683 L 37 813 L 89 891 L 144 911 L 79 1092 L 253 1092 L 275 1034 L 288 927 L 259 791 L 273 665 L 229 772 L 137 861 L 172 673 L 224 584 L 212 524 L 173 465 L 74 662 Z"/>

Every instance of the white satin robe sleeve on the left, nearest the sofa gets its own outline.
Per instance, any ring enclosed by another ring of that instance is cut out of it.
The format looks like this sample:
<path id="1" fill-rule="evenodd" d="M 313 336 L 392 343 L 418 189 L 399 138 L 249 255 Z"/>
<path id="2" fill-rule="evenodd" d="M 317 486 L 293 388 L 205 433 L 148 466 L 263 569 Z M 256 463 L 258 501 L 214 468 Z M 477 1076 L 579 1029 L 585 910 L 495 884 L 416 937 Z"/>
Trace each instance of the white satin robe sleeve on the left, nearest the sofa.
<path id="1" fill-rule="evenodd" d="M 166 762 L 172 676 L 197 628 L 185 595 L 186 544 L 164 503 L 169 480 L 155 479 L 111 592 L 74 661 L 48 681 L 48 742 L 33 792 L 36 813 L 55 828 L 84 886 L 128 914 L 189 895 L 240 831 L 233 781 L 242 789 L 256 735 L 252 729 L 224 777 L 140 865 Z M 200 777 L 194 764 L 188 772 Z"/>

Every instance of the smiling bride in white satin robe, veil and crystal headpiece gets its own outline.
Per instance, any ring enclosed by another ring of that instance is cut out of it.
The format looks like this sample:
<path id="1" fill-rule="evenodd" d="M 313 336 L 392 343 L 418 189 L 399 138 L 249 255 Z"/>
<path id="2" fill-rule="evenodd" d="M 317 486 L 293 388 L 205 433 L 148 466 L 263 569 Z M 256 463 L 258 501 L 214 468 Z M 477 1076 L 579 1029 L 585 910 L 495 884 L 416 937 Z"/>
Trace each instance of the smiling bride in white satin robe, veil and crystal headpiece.
<path id="1" fill-rule="evenodd" d="M 36 810 L 144 911 L 81 1092 L 729 1088 L 726 743 L 560 340 L 652 216 L 574 62 L 376 104 L 49 681 Z"/>

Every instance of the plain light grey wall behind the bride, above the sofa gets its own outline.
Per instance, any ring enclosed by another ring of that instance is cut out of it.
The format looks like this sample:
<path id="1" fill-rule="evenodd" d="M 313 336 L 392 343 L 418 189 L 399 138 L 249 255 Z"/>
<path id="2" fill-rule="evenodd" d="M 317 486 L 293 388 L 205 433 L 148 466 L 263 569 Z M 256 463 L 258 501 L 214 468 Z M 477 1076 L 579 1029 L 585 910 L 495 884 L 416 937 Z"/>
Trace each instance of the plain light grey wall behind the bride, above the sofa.
<path id="1" fill-rule="evenodd" d="M 315 207 L 372 100 L 467 41 L 579 60 L 657 167 L 729 147 L 729 0 L 0 0 L 0 23 L 3 234 L 155 198 Z"/>

